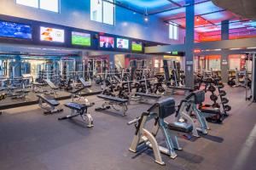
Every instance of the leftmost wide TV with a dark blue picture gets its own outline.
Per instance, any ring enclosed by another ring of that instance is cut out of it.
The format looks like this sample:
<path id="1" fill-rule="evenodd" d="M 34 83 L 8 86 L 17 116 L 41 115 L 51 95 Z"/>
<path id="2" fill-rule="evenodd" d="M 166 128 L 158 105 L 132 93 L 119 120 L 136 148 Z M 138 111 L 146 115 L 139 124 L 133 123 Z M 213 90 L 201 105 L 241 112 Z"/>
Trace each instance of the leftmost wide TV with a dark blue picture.
<path id="1" fill-rule="evenodd" d="M 0 37 L 32 39 L 31 26 L 0 20 Z"/>

